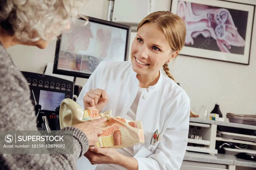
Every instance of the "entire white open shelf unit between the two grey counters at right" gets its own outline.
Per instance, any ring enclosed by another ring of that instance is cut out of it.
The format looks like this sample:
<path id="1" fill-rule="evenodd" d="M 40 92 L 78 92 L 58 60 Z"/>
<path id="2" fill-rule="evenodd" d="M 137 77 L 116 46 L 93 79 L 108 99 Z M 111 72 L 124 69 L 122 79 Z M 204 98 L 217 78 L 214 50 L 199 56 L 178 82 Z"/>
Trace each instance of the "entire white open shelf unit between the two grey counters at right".
<path id="1" fill-rule="evenodd" d="M 221 131 L 218 131 L 218 134 L 220 134 L 221 137 L 217 137 L 217 126 L 220 126 L 222 129 Z M 244 131 L 247 131 L 246 133 L 251 135 L 236 133 L 239 131 L 243 131 L 243 133 L 245 133 Z M 197 146 L 187 146 L 187 151 L 214 155 L 218 153 L 218 150 L 215 149 L 216 141 L 222 141 L 223 143 L 230 142 L 236 146 L 235 149 L 231 149 L 227 145 L 224 145 L 223 149 L 226 154 L 236 155 L 240 152 L 256 154 L 255 131 L 256 126 L 190 118 L 189 133 L 202 136 L 202 140 L 188 138 L 189 144 L 193 143 L 197 144 Z"/>

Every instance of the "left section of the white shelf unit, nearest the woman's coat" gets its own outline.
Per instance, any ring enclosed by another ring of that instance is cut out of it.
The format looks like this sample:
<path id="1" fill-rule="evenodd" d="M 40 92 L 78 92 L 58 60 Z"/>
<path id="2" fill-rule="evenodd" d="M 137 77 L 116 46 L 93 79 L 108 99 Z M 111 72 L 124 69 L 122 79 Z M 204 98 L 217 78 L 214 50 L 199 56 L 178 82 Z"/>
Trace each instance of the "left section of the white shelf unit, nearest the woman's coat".
<path id="1" fill-rule="evenodd" d="M 215 149 L 217 125 L 208 123 L 189 122 L 189 133 L 201 136 L 202 140 L 188 138 L 188 143 L 201 146 L 187 146 L 187 151 L 217 154 Z"/>

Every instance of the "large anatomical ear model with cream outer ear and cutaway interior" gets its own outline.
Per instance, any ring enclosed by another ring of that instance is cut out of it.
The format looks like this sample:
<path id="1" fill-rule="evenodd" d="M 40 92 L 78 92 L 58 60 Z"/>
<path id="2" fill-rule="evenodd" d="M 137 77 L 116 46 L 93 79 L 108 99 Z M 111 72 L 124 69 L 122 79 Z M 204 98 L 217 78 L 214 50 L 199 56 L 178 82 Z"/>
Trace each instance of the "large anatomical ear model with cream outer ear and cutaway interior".
<path id="1" fill-rule="evenodd" d="M 120 116 L 113 117 L 111 110 L 104 113 L 98 113 L 98 110 L 83 110 L 72 99 L 64 99 L 60 104 L 59 119 L 61 129 L 99 119 L 103 116 L 107 120 L 98 126 L 103 130 L 102 135 L 98 138 L 98 147 L 125 148 L 144 143 L 143 126 L 140 121 L 127 120 Z"/>

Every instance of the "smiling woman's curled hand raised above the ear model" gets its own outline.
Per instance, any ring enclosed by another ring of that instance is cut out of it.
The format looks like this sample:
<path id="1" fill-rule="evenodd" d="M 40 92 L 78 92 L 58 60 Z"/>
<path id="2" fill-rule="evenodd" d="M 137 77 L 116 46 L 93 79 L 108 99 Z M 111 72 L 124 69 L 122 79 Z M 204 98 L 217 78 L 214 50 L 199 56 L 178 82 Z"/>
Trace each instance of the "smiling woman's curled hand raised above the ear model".
<path id="1" fill-rule="evenodd" d="M 97 109 L 99 112 L 108 103 L 109 97 L 105 90 L 103 89 L 91 89 L 83 97 L 84 109 Z"/>

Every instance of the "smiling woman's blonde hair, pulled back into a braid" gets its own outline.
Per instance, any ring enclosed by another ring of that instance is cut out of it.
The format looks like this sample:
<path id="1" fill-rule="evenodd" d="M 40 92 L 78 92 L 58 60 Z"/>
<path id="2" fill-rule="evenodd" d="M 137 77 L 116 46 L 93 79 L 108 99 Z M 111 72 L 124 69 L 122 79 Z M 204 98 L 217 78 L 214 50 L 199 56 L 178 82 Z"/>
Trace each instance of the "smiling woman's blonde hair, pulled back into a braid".
<path id="1" fill-rule="evenodd" d="M 138 25 L 137 31 L 147 22 L 150 22 L 152 28 L 158 27 L 163 30 L 173 51 L 181 51 L 186 38 L 186 25 L 182 18 L 169 11 L 157 11 L 146 16 Z M 169 72 L 167 62 L 163 65 L 163 69 L 166 75 L 174 80 L 173 76 Z"/>

